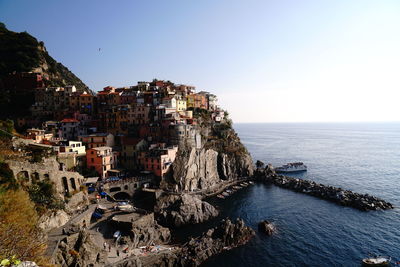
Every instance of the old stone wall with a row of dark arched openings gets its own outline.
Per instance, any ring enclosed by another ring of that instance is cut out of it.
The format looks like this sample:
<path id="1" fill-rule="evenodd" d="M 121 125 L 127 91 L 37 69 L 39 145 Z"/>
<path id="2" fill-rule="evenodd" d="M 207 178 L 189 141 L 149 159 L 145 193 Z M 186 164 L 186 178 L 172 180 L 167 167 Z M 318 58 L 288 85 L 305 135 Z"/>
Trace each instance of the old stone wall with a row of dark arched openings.
<path id="1" fill-rule="evenodd" d="M 60 170 L 60 164 L 54 157 L 45 158 L 43 162 L 7 161 L 14 177 L 24 184 L 49 180 L 60 194 L 78 191 L 83 184 L 83 176 L 77 172 Z"/>

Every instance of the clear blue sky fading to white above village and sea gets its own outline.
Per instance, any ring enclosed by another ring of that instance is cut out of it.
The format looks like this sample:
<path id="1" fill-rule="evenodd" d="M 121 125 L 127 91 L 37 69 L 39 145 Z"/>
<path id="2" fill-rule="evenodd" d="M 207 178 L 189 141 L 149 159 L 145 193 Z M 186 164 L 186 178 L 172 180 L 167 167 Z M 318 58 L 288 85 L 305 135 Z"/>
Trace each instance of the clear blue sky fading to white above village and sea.
<path id="1" fill-rule="evenodd" d="M 94 91 L 190 84 L 235 123 L 400 121 L 399 14 L 398 0 L 0 0 L 8 29 Z"/>

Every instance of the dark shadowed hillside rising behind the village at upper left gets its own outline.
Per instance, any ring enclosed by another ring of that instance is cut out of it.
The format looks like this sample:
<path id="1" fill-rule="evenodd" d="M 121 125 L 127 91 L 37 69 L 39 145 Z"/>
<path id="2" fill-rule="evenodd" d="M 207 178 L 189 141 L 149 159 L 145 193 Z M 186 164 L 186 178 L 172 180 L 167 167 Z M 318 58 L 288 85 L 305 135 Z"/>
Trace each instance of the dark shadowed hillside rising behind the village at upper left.
<path id="1" fill-rule="evenodd" d="M 34 102 L 32 90 L 9 82 L 11 73 L 21 72 L 42 74 L 44 86 L 75 85 L 78 91 L 89 90 L 75 74 L 48 54 L 43 42 L 27 32 L 10 31 L 0 23 L 1 117 L 29 114 L 28 109 Z"/>

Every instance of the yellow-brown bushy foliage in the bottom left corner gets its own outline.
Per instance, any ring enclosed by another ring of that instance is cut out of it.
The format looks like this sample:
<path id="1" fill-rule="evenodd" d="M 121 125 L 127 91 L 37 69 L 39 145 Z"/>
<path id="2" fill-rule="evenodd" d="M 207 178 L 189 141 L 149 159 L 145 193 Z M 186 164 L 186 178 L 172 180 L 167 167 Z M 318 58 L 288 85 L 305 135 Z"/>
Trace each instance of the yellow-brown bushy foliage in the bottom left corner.
<path id="1" fill-rule="evenodd" d="M 0 187 L 0 260 L 17 258 L 47 265 L 45 239 L 27 192 Z"/>

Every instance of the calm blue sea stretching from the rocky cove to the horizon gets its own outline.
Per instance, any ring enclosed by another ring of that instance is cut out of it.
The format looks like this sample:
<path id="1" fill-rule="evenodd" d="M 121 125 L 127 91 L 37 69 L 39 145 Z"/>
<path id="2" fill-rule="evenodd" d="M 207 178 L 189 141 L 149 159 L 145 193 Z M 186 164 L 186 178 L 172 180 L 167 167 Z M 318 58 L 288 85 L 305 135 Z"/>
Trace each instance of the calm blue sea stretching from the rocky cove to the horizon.
<path id="1" fill-rule="evenodd" d="M 400 123 L 235 124 L 253 160 L 273 166 L 301 161 L 300 179 L 368 193 L 394 210 L 363 212 L 274 185 L 255 184 L 208 201 L 218 218 L 183 232 L 193 236 L 222 218 L 242 218 L 256 231 L 246 245 L 203 266 L 361 266 L 369 254 L 400 260 Z M 257 231 L 262 220 L 277 232 Z"/>

